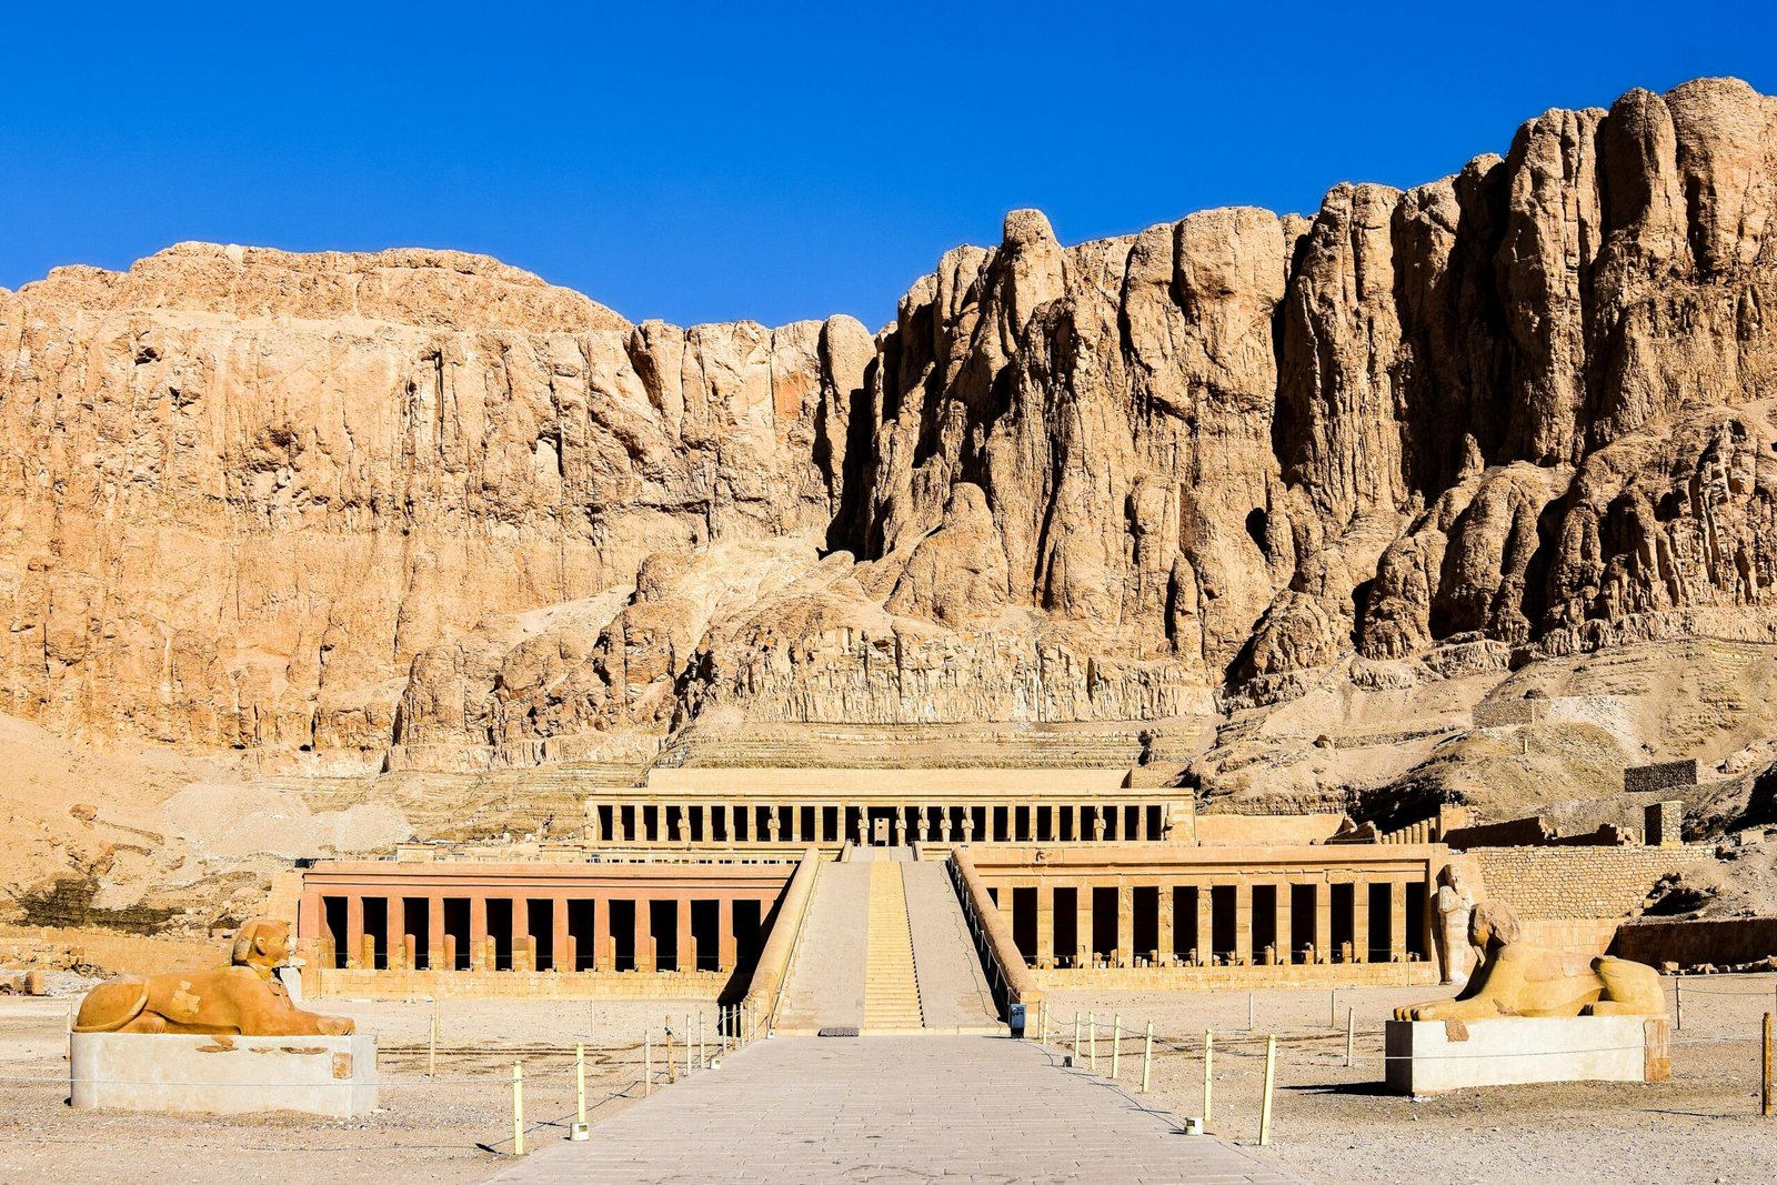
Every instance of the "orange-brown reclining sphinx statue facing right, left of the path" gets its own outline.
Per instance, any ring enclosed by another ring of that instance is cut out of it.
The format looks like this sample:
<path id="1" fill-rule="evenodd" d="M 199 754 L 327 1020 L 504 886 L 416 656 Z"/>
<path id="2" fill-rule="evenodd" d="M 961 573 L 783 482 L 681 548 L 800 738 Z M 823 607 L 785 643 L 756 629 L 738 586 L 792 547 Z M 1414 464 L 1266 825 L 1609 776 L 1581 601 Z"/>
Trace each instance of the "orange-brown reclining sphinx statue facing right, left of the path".
<path id="1" fill-rule="evenodd" d="M 277 968 L 290 963 L 290 926 L 252 920 L 235 934 L 233 965 L 210 972 L 117 975 L 80 1002 L 75 1032 L 204 1032 L 247 1038 L 347 1036 L 345 1016 L 290 1002 Z"/>

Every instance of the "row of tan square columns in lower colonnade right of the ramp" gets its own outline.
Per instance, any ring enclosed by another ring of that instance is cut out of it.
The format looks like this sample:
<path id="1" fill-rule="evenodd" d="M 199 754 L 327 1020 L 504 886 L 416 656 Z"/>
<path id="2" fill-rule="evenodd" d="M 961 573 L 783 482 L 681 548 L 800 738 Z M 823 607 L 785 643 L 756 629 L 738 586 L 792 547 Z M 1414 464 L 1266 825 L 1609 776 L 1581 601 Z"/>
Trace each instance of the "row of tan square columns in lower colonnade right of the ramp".
<path id="1" fill-rule="evenodd" d="M 1351 904 L 1342 906 L 1340 917 L 1335 917 L 1333 910 L 1333 883 L 1324 879 L 1315 881 L 1237 881 L 1223 883 L 1221 888 L 1231 894 L 1231 924 L 1224 926 L 1228 940 L 1215 943 L 1215 881 L 1189 881 L 1182 885 L 1160 883 L 1160 885 L 1143 885 L 1143 888 L 1157 888 L 1157 919 L 1155 919 L 1155 938 L 1153 947 L 1148 950 L 1136 949 L 1136 885 L 1116 885 L 1116 943 L 1109 950 L 1095 949 L 1093 934 L 1093 885 L 1089 883 L 1061 883 L 1059 888 L 1075 890 L 1075 922 L 1073 950 L 1059 950 L 1056 947 L 1056 888 L 1057 883 L 1052 879 L 1032 881 L 1032 879 L 1006 879 L 995 878 L 999 910 L 1006 917 L 1015 936 L 1031 934 L 1034 929 L 1034 950 L 1027 950 L 1027 958 L 1032 958 L 1036 966 L 1144 966 L 1144 965 L 1292 965 L 1292 963 L 1367 963 L 1372 961 L 1372 954 L 1381 954 L 1381 950 L 1372 952 L 1372 903 L 1370 903 L 1370 885 L 1388 887 L 1388 908 L 1386 917 L 1381 926 L 1386 926 L 1386 961 L 1402 963 L 1413 958 L 1427 958 L 1429 952 L 1429 931 L 1425 934 L 1409 934 L 1407 929 L 1407 892 L 1409 885 L 1423 885 L 1423 881 L 1407 879 L 1377 879 L 1377 881 L 1340 881 L 1351 885 Z M 1274 892 L 1274 911 L 1271 917 L 1272 942 L 1260 949 L 1255 949 L 1255 894 L 1253 890 L 1262 885 L 1271 885 Z M 1303 885 L 1313 890 L 1313 940 L 1310 943 L 1297 945 L 1294 942 L 1295 934 L 1295 901 L 1292 888 Z M 1036 892 L 1025 895 L 1025 901 L 1034 897 L 1034 919 L 1027 924 L 1020 917 L 1020 894 L 1016 888 L 1034 887 Z M 1100 885 L 1098 888 L 1107 888 Z M 1178 894 L 1178 890 L 1189 890 Z M 1194 903 L 1194 919 L 1191 919 L 1187 931 L 1191 934 L 1191 947 L 1180 947 L 1178 943 L 1178 919 L 1175 917 L 1175 903 L 1183 897 Z M 1422 908 L 1422 926 L 1425 926 L 1425 911 Z M 1381 929 L 1377 926 L 1377 929 Z M 1340 942 L 1335 945 L 1335 933 L 1340 933 Z"/>

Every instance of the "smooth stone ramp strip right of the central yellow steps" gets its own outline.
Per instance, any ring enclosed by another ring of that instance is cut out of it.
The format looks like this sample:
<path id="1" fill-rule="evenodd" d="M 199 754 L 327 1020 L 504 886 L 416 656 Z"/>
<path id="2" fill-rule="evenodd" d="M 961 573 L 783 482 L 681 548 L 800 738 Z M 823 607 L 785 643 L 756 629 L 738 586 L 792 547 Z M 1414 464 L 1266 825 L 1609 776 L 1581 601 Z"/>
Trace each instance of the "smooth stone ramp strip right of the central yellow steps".
<path id="1" fill-rule="evenodd" d="M 919 968 L 919 1007 L 928 1030 L 1004 1032 L 999 1006 L 968 936 L 968 920 L 944 863 L 903 867 L 906 915 Z"/>

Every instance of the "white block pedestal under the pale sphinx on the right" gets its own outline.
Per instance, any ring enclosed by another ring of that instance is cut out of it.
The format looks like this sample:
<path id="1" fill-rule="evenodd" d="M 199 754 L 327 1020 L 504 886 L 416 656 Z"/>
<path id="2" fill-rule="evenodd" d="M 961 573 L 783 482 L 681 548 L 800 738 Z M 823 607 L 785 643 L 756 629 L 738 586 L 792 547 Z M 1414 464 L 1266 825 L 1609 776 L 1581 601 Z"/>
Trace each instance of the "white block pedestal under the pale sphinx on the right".
<path id="1" fill-rule="evenodd" d="M 1391 1020 L 1388 1089 L 1436 1094 L 1526 1082 L 1665 1082 L 1672 1030 L 1649 1016 Z"/>

